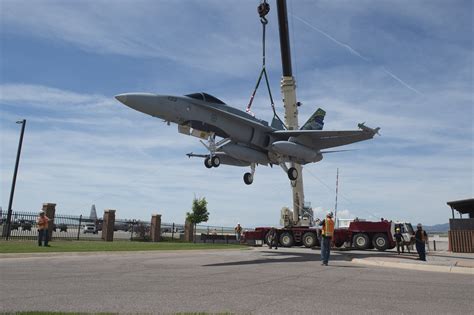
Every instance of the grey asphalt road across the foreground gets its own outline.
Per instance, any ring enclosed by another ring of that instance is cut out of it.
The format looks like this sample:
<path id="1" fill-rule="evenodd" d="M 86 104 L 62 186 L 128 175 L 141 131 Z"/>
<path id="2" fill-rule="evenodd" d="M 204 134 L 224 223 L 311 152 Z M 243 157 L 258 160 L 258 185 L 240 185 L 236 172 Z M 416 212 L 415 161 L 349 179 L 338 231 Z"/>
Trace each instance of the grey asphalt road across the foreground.
<path id="1" fill-rule="evenodd" d="M 390 253 L 385 253 L 389 255 Z M 0 258 L 0 312 L 467 314 L 474 277 L 361 266 L 305 248 Z"/>

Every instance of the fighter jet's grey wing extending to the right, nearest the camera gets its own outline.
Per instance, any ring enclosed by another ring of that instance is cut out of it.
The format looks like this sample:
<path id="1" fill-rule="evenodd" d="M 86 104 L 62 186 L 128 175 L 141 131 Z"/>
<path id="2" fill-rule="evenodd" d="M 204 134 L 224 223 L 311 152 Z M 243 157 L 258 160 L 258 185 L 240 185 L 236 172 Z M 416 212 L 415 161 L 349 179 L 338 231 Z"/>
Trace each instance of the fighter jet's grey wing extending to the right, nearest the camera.
<path id="1" fill-rule="evenodd" d="M 272 132 L 272 136 L 278 140 L 292 141 L 314 150 L 322 150 L 372 139 L 380 129 L 371 129 L 363 124 L 360 124 L 359 128 L 362 130 L 277 130 Z"/>

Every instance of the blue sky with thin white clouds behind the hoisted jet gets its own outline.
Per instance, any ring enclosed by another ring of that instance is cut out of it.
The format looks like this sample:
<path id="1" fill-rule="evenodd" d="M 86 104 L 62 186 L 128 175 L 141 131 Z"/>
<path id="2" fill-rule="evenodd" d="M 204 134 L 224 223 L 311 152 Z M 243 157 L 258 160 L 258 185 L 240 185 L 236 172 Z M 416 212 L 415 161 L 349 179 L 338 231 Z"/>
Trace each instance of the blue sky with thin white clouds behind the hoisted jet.
<path id="1" fill-rule="evenodd" d="M 284 116 L 276 3 L 266 66 Z M 291 206 L 279 167 L 207 169 L 197 138 L 122 105 L 114 95 L 207 92 L 245 110 L 261 67 L 259 1 L 0 0 L 0 206 L 56 203 L 61 214 L 183 223 L 205 197 L 208 224 L 277 225 Z M 473 198 L 472 1 L 288 0 L 299 121 L 318 107 L 325 130 L 366 122 L 380 136 L 303 170 L 317 216 L 447 223 L 447 201 Z M 264 87 L 252 111 L 271 121 Z"/>

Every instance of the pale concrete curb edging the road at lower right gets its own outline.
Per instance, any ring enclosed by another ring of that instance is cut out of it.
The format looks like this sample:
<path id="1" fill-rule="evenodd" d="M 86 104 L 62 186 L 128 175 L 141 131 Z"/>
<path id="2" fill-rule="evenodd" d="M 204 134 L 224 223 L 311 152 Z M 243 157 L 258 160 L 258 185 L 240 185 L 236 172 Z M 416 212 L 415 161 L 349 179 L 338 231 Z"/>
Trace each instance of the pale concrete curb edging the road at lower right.
<path id="1" fill-rule="evenodd" d="M 428 265 L 428 264 L 410 264 L 410 263 L 399 263 L 399 262 L 369 260 L 369 259 L 360 259 L 360 258 L 353 258 L 352 262 L 356 264 L 361 264 L 361 265 L 410 269 L 410 270 L 419 270 L 419 271 L 431 271 L 431 272 L 448 272 L 448 273 L 468 274 L 468 275 L 474 276 L 474 268 L 468 268 L 468 267 L 439 266 L 439 265 Z"/>

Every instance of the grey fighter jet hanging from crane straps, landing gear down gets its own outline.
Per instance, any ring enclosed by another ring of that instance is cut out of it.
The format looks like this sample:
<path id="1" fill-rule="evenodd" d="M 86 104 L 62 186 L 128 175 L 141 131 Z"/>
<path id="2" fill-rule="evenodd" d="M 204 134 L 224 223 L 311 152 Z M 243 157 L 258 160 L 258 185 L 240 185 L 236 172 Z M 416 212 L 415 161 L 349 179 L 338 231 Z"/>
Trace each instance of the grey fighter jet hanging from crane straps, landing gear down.
<path id="1" fill-rule="evenodd" d="M 299 130 L 286 130 L 273 118 L 271 125 L 253 115 L 231 107 L 207 93 L 185 96 L 150 93 L 125 93 L 115 98 L 139 112 L 178 125 L 178 131 L 201 138 L 209 153 L 188 153 L 204 159 L 207 168 L 221 164 L 250 166 L 244 182 L 252 184 L 257 165 L 279 165 L 292 181 L 298 178 L 294 163 L 319 162 L 324 149 L 368 140 L 380 128 L 358 124 L 360 130 L 323 131 L 326 112 L 318 109 Z"/>

